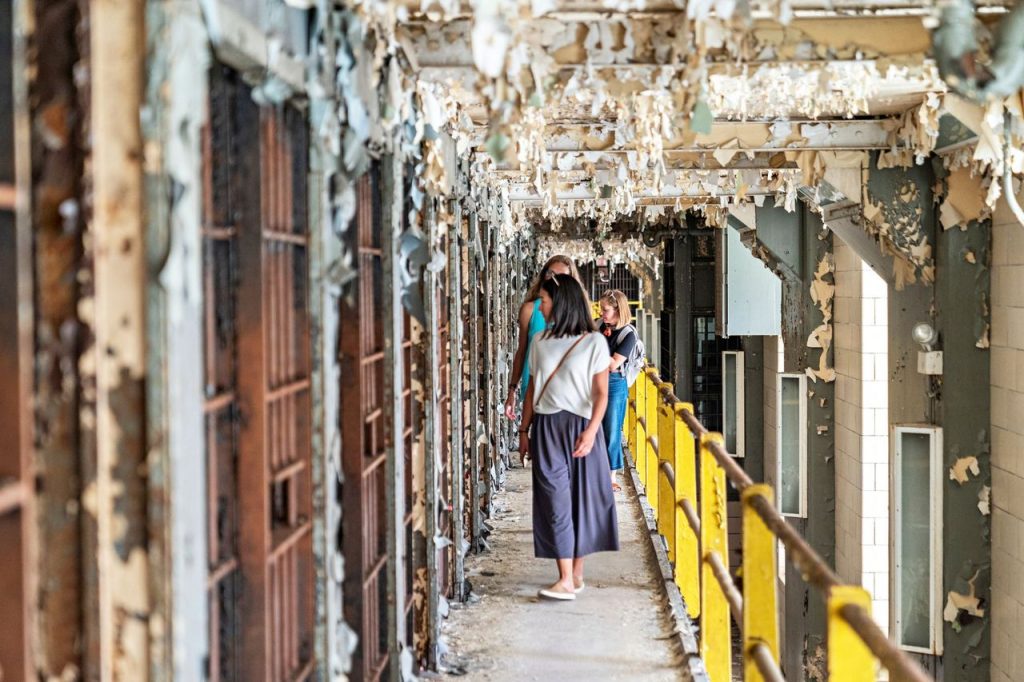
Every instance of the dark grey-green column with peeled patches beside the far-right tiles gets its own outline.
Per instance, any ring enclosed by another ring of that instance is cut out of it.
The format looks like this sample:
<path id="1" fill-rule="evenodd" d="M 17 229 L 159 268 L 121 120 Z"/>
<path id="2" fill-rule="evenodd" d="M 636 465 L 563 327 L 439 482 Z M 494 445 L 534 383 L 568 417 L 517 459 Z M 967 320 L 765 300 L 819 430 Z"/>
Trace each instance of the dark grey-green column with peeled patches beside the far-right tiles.
<path id="1" fill-rule="evenodd" d="M 990 244 L 989 219 L 936 230 L 935 328 L 949 358 L 934 398 L 942 464 L 949 472 L 942 488 L 945 679 L 989 679 L 991 381 L 987 314 L 981 308 L 987 308 L 990 295 Z"/>

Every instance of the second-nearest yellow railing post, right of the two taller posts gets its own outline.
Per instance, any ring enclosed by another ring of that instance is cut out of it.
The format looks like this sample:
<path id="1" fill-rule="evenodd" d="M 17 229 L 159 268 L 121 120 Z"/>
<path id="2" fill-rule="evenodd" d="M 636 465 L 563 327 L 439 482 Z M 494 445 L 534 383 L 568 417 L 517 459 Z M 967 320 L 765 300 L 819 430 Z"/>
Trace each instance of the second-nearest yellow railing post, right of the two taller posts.
<path id="1" fill-rule="evenodd" d="M 758 483 L 743 491 L 743 680 L 763 682 L 764 677 L 751 655 L 763 644 L 778 663 L 778 615 L 775 595 L 775 536 L 758 515 L 751 500 L 760 496 L 770 504 L 770 485 Z"/>

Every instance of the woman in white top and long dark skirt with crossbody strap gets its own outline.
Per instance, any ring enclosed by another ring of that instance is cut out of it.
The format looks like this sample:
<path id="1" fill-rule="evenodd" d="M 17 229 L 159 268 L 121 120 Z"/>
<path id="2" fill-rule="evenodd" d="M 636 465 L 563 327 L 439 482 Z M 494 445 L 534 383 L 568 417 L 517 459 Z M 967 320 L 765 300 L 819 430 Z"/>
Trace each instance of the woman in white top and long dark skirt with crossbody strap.
<path id="1" fill-rule="evenodd" d="M 549 327 L 530 344 L 519 452 L 524 463 L 535 461 L 535 554 L 558 564 L 558 581 L 539 594 L 570 600 L 584 589 L 584 556 L 618 549 L 601 429 L 611 357 L 572 276 L 544 282 L 541 310 Z"/>

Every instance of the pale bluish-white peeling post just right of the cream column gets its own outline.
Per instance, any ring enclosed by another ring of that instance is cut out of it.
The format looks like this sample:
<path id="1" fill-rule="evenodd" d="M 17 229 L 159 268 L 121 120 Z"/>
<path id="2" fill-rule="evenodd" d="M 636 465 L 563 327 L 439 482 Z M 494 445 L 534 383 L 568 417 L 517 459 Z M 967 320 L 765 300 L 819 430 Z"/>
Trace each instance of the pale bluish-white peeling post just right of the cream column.
<path id="1" fill-rule="evenodd" d="M 151 679 L 199 680 L 208 650 L 201 150 L 209 53 L 199 8 L 151 3 L 143 102 Z M 207 303 L 208 304 L 208 303 Z M 172 379 L 173 378 L 173 379 Z"/>

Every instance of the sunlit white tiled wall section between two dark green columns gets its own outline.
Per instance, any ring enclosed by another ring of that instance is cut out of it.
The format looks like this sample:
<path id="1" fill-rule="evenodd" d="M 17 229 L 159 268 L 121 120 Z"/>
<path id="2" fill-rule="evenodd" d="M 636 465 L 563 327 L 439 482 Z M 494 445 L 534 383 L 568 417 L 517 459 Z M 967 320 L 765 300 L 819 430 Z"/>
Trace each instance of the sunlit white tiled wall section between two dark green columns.
<path id="1" fill-rule="evenodd" d="M 885 282 L 836 241 L 836 567 L 889 622 L 889 361 Z"/>

